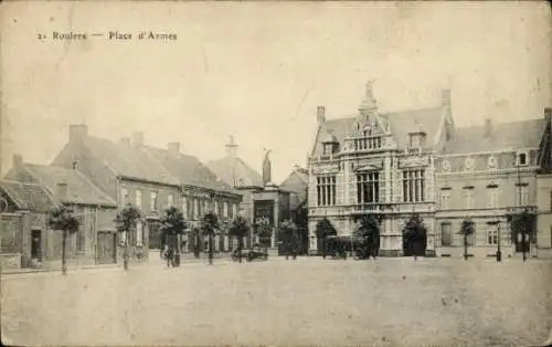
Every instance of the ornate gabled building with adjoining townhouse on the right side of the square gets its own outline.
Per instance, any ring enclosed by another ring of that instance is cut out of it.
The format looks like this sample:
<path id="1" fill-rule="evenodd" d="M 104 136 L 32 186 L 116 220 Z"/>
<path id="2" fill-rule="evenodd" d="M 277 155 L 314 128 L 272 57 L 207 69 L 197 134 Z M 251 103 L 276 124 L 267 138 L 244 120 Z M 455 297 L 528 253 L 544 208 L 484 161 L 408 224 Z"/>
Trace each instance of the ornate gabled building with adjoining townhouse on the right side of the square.
<path id="1" fill-rule="evenodd" d="M 351 234 L 371 214 L 380 222 L 380 254 L 403 255 L 405 223 L 418 213 L 427 254 L 459 255 L 460 224 L 470 219 L 474 255 L 493 255 L 500 231 L 503 252 L 512 255 L 523 242 L 512 235 L 511 218 L 523 210 L 533 215 L 537 235 L 526 243 L 550 251 L 551 114 L 455 127 L 450 91 L 435 107 L 381 113 L 371 84 L 353 115 L 326 119 L 319 106 L 308 164 L 310 250 L 320 246 L 320 220 Z"/>

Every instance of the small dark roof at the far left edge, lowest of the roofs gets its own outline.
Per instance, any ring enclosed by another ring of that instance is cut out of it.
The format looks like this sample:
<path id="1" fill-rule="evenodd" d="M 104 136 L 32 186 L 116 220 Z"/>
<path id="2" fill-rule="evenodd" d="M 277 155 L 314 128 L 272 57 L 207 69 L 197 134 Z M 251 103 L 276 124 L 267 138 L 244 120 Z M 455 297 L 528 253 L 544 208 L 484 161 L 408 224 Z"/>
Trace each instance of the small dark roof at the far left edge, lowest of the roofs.
<path id="1" fill-rule="evenodd" d="M 36 183 L 0 180 L 0 189 L 21 210 L 45 212 L 55 203 L 53 197 Z"/>

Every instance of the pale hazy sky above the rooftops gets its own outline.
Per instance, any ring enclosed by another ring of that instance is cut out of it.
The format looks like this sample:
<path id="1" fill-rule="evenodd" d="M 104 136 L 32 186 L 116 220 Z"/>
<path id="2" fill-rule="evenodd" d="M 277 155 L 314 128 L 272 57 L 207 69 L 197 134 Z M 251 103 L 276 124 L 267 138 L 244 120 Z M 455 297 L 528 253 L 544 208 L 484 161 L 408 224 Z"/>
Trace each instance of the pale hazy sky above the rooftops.
<path id="1" fill-rule="evenodd" d="M 458 126 L 542 117 L 551 99 L 544 2 L 17 2 L 2 11 L 2 171 L 13 153 L 50 164 L 67 126 L 206 161 L 238 155 L 273 179 L 305 166 L 316 106 L 354 113 L 374 80 L 380 109 L 438 105 L 450 88 Z M 52 41 L 52 32 L 144 30 L 177 41 Z M 47 35 L 41 42 L 38 33 Z"/>

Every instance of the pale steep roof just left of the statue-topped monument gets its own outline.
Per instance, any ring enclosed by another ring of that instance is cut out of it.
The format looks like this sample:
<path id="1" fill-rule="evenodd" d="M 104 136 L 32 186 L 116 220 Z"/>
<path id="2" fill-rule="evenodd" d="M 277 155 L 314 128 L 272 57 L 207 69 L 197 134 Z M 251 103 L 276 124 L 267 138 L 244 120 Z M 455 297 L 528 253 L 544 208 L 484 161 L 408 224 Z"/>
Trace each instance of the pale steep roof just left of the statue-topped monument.
<path id="1" fill-rule="evenodd" d="M 216 176 L 232 187 L 263 186 L 263 178 L 238 157 L 226 156 L 206 162 Z"/>

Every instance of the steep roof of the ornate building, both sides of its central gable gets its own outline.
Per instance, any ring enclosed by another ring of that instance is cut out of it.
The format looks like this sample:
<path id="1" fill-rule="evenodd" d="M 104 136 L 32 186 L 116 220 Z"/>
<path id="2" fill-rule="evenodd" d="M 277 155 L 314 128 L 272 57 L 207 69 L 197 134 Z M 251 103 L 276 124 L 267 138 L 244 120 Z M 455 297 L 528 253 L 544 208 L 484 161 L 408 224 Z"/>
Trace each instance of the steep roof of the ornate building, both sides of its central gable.
<path id="1" fill-rule="evenodd" d="M 378 114 L 379 117 L 389 123 L 393 138 L 400 148 L 407 146 L 408 133 L 413 130 L 423 130 L 426 133 L 428 143 L 433 144 L 435 136 L 439 132 L 439 126 L 442 126 L 444 115 L 443 106 Z M 353 114 L 342 118 L 328 119 L 320 124 L 312 155 L 319 156 L 322 154 L 322 141 L 328 137 L 328 134 L 342 146 L 346 137 L 355 130 L 357 123 L 358 115 Z"/>

